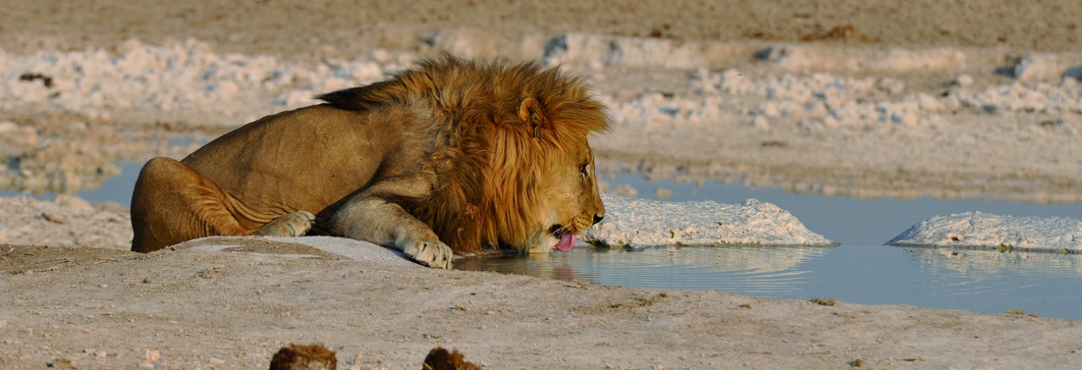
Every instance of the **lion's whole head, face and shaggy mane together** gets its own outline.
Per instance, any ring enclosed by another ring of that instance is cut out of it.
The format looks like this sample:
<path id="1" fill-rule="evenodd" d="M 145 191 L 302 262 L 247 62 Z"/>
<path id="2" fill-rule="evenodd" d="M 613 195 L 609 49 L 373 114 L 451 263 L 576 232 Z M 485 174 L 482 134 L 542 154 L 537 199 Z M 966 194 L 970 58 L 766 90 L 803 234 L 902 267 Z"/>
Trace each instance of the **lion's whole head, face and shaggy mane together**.
<path id="1" fill-rule="evenodd" d="M 609 121 L 583 79 L 537 63 L 444 57 L 398 80 L 435 91 L 421 110 L 438 122 L 439 186 L 412 213 L 456 252 L 566 250 L 605 216 L 586 136 Z"/>

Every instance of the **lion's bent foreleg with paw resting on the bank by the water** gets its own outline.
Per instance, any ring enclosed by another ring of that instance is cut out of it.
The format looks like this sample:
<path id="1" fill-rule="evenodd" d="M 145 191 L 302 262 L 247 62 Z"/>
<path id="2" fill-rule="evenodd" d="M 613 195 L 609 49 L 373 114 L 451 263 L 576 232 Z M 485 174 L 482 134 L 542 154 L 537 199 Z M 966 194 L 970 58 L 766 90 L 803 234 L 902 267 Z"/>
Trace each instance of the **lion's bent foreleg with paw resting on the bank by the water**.
<path id="1" fill-rule="evenodd" d="M 331 233 L 403 251 L 422 265 L 451 268 L 453 252 L 428 225 L 400 206 L 369 196 L 343 206 L 331 221 Z"/>

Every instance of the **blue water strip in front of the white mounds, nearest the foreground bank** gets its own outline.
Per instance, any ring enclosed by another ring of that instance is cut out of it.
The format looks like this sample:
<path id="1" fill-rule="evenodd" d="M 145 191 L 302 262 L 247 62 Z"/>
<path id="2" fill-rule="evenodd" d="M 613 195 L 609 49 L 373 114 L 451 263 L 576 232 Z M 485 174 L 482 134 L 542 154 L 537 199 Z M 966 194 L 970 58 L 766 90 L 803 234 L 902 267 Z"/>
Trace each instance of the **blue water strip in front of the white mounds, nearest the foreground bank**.
<path id="1" fill-rule="evenodd" d="M 464 259 L 454 268 L 612 286 L 832 298 L 1082 320 L 1082 255 L 885 246 L 575 248 Z"/>

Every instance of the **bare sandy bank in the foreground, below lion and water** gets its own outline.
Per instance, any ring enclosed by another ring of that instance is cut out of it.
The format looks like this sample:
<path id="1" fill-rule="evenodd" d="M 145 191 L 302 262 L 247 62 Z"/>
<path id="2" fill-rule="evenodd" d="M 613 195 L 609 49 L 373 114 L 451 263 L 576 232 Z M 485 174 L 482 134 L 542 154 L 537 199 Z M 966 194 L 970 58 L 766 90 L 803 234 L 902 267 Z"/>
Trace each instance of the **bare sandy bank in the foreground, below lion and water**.
<path id="1" fill-rule="evenodd" d="M 260 368 L 282 345 L 314 342 L 345 369 L 420 368 L 436 345 L 492 369 L 1051 369 L 1082 356 L 1082 325 L 1026 315 L 384 266 L 272 242 L 245 250 L 0 246 L 0 367 Z"/>

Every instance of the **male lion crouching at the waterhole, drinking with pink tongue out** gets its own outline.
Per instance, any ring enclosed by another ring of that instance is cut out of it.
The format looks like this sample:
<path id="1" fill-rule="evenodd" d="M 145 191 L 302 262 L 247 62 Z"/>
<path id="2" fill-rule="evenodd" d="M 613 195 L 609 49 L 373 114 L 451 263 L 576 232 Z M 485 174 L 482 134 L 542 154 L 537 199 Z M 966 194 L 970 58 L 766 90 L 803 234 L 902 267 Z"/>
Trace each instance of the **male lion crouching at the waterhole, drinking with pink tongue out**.
<path id="1" fill-rule="evenodd" d="M 443 56 L 143 167 L 132 250 L 204 236 L 328 234 L 450 268 L 452 253 L 567 250 L 597 223 L 581 78 Z"/>

